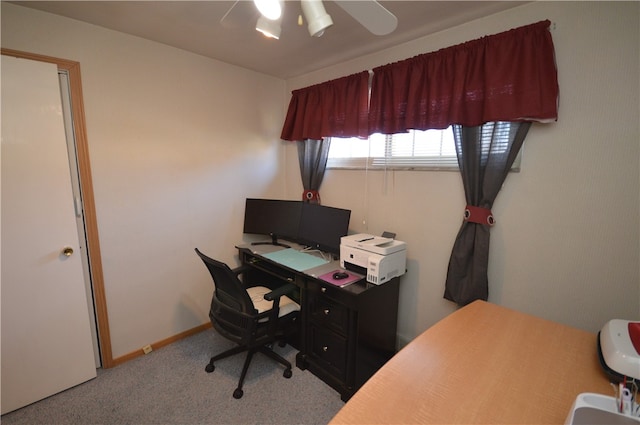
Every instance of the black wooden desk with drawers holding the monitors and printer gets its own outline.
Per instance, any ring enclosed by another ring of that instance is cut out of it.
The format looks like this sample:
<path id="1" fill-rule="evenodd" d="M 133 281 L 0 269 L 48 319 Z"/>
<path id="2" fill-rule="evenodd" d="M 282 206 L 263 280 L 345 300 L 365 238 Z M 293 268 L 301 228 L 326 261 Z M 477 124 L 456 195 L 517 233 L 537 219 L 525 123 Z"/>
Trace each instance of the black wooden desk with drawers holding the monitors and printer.
<path id="1" fill-rule="evenodd" d="M 301 272 L 264 256 L 278 250 L 282 248 L 239 246 L 240 262 L 248 268 L 244 277 L 267 286 L 294 283 L 300 289 L 296 365 L 346 401 L 396 353 L 399 278 L 379 286 L 363 278 L 337 287 L 318 276 L 339 269 L 338 261 Z"/>

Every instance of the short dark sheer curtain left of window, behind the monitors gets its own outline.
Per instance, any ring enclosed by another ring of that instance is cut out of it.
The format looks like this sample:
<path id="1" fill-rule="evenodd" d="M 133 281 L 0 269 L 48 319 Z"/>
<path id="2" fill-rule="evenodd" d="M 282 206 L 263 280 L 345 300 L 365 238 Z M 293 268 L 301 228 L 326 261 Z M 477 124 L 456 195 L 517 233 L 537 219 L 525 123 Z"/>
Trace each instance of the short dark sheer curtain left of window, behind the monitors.
<path id="1" fill-rule="evenodd" d="M 302 177 L 302 200 L 320 204 L 320 185 L 327 167 L 331 139 L 306 139 L 297 142 L 300 177 Z"/>

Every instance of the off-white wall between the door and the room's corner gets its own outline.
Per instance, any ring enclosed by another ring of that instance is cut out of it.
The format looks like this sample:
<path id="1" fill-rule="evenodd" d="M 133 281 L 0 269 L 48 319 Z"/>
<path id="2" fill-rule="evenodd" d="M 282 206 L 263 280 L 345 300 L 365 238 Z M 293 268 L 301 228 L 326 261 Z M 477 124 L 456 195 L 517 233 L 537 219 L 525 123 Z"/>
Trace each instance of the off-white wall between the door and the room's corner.
<path id="1" fill-rule="evenodd" d="M 234 262 L 244 199 L 284 196 L 284 82 L 6 2 L 2 47 L 80 62 L 113 357 L 207 323 L 193 249 Z"/>

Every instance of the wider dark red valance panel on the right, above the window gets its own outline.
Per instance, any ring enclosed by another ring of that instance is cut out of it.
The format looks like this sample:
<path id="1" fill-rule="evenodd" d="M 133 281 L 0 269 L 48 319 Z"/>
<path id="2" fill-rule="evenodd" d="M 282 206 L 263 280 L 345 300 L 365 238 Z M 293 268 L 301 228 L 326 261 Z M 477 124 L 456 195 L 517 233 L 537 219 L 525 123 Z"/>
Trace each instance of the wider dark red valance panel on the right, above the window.
<path id="1" fill-rule="evenodd" d="M 370 134 L 556 120 L 549 25 L 541 21 L 375 68 Z"/>

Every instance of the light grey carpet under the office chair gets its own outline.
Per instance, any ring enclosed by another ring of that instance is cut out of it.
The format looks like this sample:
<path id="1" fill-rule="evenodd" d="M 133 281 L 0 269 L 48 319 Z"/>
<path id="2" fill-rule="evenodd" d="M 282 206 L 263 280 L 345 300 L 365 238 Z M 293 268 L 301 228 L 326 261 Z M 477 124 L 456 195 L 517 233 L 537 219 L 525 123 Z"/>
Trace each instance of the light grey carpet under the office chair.
<path id="1" fill-rule="evenodd" d="M 110 369 L 98 377 L 2 416 L 17 424 L 326 424 L 344 403 L 309 371 L 295 367 L 297 350 L 275 347 L 289 360 L 293 376 L 257 353 L 244 396 L 236 400 L 245 355 L 204 368 L 213 354 L 232 347 L 213 329 Z"/>

